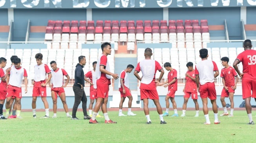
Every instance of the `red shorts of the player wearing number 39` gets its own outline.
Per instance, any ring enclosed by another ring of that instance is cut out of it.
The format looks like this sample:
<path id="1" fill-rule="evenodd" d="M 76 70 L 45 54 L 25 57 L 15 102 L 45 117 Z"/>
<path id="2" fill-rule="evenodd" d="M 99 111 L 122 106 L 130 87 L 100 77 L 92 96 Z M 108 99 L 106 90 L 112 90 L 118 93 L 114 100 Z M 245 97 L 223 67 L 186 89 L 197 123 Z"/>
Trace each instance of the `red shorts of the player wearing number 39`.
<path id="1" fill-rule="evenodd" d="M 248 97 L 256 98 L 256 81 L 242 79 L 242 94 L 243 99 Z"/>

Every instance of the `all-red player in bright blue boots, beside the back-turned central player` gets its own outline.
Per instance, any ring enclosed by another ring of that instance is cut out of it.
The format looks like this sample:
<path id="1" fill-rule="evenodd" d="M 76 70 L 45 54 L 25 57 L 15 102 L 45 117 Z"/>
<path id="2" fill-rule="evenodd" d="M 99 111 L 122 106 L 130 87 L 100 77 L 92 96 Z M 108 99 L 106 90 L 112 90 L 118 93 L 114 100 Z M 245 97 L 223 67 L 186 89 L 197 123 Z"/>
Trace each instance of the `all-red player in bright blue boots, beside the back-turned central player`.
<path id="1" fill-rule="evenodd" d="M 164 83 L 159 84 L 159 86 L 164 85 L 164 87 L 168 87 L 168 92 L 167 95 L 165 97 L 165 105 L 166 105 L 166 111 L 163 114 L 163 116 L 169 116 L 169 107 L 170 107 L 170 103 L 169 103 L 169 99 L 172 102 L 172 107 L 174 110 L 174 114 L 172 115 L 172 117 L 178 117 L 178 111 L 177 111 L 177 105 L 176 102 L 174 100 L 174 96 L 175 96 L 175 92 L 177 91 L 177 86 L 178 86 L 178 82 L 177 82 L 177 71 L 175 69 L 173 69 L 171 67 L 171 63 L 164 63 L 163 67 L 165 68 L 165 70 L 169 71 L 168 73 L 168 80 L 166 80 Z"/>

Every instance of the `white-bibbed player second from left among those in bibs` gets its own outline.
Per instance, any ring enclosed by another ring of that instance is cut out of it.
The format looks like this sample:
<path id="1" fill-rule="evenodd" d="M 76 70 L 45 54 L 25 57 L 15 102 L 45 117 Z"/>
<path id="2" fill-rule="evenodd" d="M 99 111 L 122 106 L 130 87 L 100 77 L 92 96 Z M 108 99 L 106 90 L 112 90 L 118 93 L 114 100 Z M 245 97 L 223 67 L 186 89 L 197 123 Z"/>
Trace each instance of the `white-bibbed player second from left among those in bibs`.
<path id="1" fill-rule="evenodd" d="M 42 118 L 49 118 L 49 104 L 46 99 L 46 84 L 51 80 L 51 70 L 47 64 L 42 63 L 43 55 L 41 53 L 37 53 L 35 58 L 37 64 L 34 66 L 34 80 L 32 81 L 32 84 L 34 85 L 32 94 L 33 117 L 36 118 L 36 99 L 40 96 L 45 108 L 45 116 Z M 48 74 L 48 78 L 45 80 L 46 73 Z"/>

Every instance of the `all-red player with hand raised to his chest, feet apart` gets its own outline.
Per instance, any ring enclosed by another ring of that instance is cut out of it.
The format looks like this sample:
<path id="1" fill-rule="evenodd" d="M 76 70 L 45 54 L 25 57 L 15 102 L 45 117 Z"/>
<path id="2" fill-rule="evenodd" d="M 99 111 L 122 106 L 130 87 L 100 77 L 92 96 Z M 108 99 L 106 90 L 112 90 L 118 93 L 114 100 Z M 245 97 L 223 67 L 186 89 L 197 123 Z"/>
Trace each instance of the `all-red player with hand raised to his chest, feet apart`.
<path id="1" fill-rule="evenodd" d="M 195 103 L 195 108 L 196 108 L 196 115 L 194 117 L 199 116 L 199 105 L 197 102 L 198 95 L 197 95 L 197 88 L 196 88 L 196 75 L 195 75 L 195 70 L 193 68 L 193 63 L 188 62 L 186 64 L 188 71 L 185 74 L 185 87 L 183 89 L 184 92 L 184 103 L 182 106 L 182 117 L 186 116 L 186 109 L 187 109 L 187 102 L 189 100 L 189 97 L 191 95 L 191 98 L 193 99 Z"/>

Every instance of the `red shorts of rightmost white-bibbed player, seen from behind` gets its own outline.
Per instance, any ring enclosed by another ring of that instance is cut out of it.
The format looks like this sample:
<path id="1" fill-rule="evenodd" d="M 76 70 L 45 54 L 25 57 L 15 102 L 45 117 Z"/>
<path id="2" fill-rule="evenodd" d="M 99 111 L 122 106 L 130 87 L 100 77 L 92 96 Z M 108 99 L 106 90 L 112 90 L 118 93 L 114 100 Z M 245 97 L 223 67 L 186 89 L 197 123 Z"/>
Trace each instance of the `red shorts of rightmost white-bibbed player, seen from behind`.
<path id="1" fill-rule="evenodd" d="M 208 97 L 211 100 L 217 98 L 214 82 L 207 82 L 206 84 L 200 85 L 199 93 L 201 98 Z"/>

